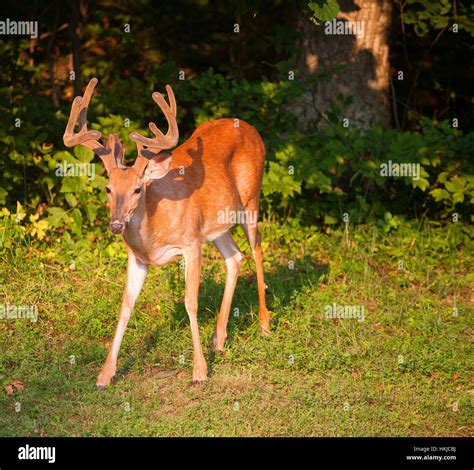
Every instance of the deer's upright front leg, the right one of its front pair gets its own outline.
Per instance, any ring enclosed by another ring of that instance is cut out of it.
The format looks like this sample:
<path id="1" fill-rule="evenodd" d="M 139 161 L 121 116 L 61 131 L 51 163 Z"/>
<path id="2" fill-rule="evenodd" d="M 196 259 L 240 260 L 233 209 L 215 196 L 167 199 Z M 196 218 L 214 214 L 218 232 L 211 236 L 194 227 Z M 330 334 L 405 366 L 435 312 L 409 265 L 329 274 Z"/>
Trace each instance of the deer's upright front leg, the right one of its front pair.
<path id="1" fill-rule="evenodd" d="M 201 247 L 193 247 L 192 249 L 185 250 L 184 260 L 186 263 L 186 293 L 184 302 L 191 323 L 194 347 L 193 382 L 203 382 L 207 379 L 207 364 L 201 349 L 197 322 L 198 291 L 201 276 Z"/>

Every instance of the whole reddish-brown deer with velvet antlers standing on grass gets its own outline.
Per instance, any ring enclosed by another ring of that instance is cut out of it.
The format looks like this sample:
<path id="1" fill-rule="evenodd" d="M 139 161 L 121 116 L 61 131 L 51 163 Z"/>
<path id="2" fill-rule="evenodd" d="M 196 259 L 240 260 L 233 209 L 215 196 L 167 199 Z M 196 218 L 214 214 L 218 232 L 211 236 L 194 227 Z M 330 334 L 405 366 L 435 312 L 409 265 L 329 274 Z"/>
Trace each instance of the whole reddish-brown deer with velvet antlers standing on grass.
<path id="1" fill-rule="evenodd" d="M 177 146 L 176 100 L 171 86 L 166 85 L 168 102 L 158 92 L 152 94 L 152 99 L 164 114 L 168 131 L 165 135 L 150 122 L 154 138 L 130 133 L 137 157 L 132 166 L 126 166 L 117 134 L 110 134 L 103 145 L 99 141 L 101 133 L 87 128 L 87 111 L 97 83 L 92 78 L 84 95 L 75 97 L 63 135 L 66 147 L 82 145 L 102 160 L 108 177 L 109 228 L 122 237 L 127 248 L 126 282 L 118 323 L 96 386 L 104 390 L 117 373 L 120 345 L 149 267 L 163 266 L 179 257 L 184 258 L 184 304 L 193 342 L 192 382 L 204 382 L 208 367 L 198 327 L 202 249 L 211 242 L 226 264 L 224 294 L 212 339 L 214 350 L 222 352 L 243 260 L 230 232 L 236 223 L 244 230 L 256 265 L 260 331 L 264 336 L 270 334 L 258 230 L 264 142 L 247 122 L 224 118 L 201 124 L 188 140 Z M 254 217 L 222 217 L 229 213 Z"/>

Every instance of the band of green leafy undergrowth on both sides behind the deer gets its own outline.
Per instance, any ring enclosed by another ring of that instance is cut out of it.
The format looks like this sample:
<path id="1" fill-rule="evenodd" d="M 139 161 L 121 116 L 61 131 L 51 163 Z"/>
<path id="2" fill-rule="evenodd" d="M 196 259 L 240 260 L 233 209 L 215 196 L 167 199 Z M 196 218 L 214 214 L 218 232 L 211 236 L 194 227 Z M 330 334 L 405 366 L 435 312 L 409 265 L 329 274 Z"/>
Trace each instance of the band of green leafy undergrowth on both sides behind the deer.
<path id="1" fill-rule="evenodd" d="M 285 73 L 288 64 L 280 67 Z M 260 131 L 267 147 L 262 187 L 267 215 L 291 213 L 305 224 L 329 228 L 347 214 L 351 222 L 375 219 L 386 231 L 398 229 L 409 218 L 451 221 L 456 213 L 459 221 L 469 221 L 474 133 L 463 134 L 448 122 L 426 118 L 413 132 L 346 128 L 336 107 L 344 99 L 328 113 L 329 122 L 314 122 L 302 132 L 294 126 L 291 103 L 303 91 L 298 80 L 227 79 L 209 69 L 176 85 L 181 128 L 189 136 L 205 121 L 235 117 Z M 117 132 L 126 143 L 132 130 L 147 132 L 144 123 L 131 120 L 125 127 L 124 117 L 107 114 L 107 108 L 98 105 L 105 115 L 92 118 L 91 128 L 103 135 Z M 11 133 L 0 138 L 6 158 L 6 171 L 0 176 L 5 189 L 0 197 L 6 205 L 0 219 L 0 250 L 15 249 L 17 238 L 27 245 L 34 240 L 44 245 L 45 257 L 69 264 L 106 232 L 104 169 L 87 149 L 63 150 L 65 113 L 56 112 L 53 123 L 33 122 L 20 129 L 11 126 Z M 126 147 L 128 158 L 135 158 L 135 147 Z M 419 178 L 383 176 L 381 167 L 388 162 L 419 165 Z M 90 165 L 93 177 L 61 176 L 58 167 L 66 164 Z M 106 256 L 122 257 L 123 250 L 110 247 Z"/>

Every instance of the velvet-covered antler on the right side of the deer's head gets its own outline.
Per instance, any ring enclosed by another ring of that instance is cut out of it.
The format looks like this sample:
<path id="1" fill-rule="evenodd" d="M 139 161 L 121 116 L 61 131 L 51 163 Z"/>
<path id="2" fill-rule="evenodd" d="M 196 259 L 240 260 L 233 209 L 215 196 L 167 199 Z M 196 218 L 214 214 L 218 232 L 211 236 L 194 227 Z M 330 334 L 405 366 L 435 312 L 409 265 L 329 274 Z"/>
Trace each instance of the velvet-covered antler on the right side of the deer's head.
<path id="1" fill-rule="evenodd" d="M 179 140 L 178 124 L 176 123 L 176 99 L 173 90 L 169 85 L 166 85 L 166 92 L 168 93 L 170 104 L 168 104 L 161 93 L 155 92 L 152 95 L 153 101 L 160 107 L 161 111 L 168 121 L 168 132 L 164 135 L 154 122 L 150 122 L 150 130 L 155 134 L 154 139 L 143 137 L 142 135 L 133 132 L 130 138 L 137 144 L 140 143 L 152 149 L 165 150 L 173 148 L 177 145 Z"/>

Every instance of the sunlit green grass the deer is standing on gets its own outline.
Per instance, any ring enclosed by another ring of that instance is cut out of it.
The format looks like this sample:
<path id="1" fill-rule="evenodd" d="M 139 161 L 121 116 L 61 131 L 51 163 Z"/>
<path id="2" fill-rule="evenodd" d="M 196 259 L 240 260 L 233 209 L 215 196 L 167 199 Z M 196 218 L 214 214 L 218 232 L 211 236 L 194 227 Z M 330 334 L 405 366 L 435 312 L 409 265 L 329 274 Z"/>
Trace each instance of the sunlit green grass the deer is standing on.
<path id="1" fill-rule="evenodd" d="M 6 253 L 0 303 L 37 304 L 39 319 L 0 320 L 0 383 L 25 385 L 0 390 L 0 435 L 472 435 L 472 257 L 453 230 L 351 226 L 324 235 L 264 224 L 272 335 L 258 332 L 248 256 L 223 355 L 210 345 L 225 265 L 207 247 L 199 322 L 211 376 L 202 385 L 191 384 L 183 273 L 177 263 L 153 268 L 125 333 L 118 380 L 102 393 L 95 378 L 126 261 L 79 258 L 70 270 L 35 250 Z M 363 305 L 365 321 L 325 318 L 334 302 Z"/>

